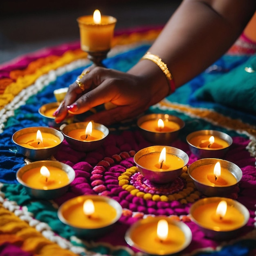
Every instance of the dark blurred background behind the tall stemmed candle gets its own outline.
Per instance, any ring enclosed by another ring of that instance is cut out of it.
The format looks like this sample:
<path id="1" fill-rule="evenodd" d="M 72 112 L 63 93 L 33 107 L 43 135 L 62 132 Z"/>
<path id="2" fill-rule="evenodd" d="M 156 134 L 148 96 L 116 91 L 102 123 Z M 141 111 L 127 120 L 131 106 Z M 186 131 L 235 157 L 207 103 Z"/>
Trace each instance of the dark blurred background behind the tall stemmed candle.
<path id="1" fill-rule="evenodd" d="M 164 25 L 181 0 L 1 0 L 0 64 L 43 47 L 79 40 L 76 18 L 117 18 L 115 30 Z"/>

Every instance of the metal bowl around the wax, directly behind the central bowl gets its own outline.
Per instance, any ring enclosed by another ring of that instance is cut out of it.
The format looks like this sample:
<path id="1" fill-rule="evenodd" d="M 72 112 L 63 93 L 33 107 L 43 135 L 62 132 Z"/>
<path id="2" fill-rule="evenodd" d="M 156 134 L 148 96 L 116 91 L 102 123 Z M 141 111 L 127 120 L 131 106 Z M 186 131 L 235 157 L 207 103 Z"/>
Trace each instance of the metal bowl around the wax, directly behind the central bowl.
<path id="1" fill-rule="evenodd" d="M 141 128 L 141 124 L 143 124 L 144 122 L 149 120 L 158 120 L 158 119 L 174 122 L 178 126 L 180 126 L 180 128 L 178 130 L 173 130 L 170 132 L 157 132 L 157 131 L 150 131 L 150 130 Z M 137 121 L 137 126 L 139 126 L 141 134 L 146 140 L 153 142 L 154 144 L 157 144 L 157 145 L 159 144 L 168 145 L 177 138 L 180 130 L 184 128 L 185 123 L 182 119 L 180 119 L 179 117 L 175 117 L 173 115 L 149 114 L 149 115 L 144 115 L 140 117 Z"/>

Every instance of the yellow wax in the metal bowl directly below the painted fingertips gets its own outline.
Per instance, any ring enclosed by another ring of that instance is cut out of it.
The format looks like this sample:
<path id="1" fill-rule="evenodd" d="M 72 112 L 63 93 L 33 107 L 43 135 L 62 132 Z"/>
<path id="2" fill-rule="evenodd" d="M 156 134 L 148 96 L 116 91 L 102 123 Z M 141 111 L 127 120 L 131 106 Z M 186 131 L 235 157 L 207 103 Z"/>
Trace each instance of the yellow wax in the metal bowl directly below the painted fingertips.
<path id="1" fill-rule="evenodd" d="M 97 129 L 92 129 L 92 134 L 91 135 L 88 134 L 87 136 L 85 133 L 85 129 L 71 130 L 70 132 L 68 132 L 67 135 L 69 137 L 72 137 L 73 139 L 77 139 L 80 141 L 96 141 L 96 140 L 103 139 L 104 137 L 104 133 Z"/>

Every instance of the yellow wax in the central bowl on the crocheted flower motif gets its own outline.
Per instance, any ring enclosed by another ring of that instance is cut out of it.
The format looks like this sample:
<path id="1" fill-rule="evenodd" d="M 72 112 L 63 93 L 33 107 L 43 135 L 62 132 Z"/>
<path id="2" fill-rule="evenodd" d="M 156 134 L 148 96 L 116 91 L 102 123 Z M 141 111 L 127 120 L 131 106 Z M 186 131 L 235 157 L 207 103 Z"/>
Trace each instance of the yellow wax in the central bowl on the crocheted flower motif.
<path id="1" fill-rule="evenodd" d="M 173 171 L 183 168 L 184 166 L 183 159 L 181 159 L 177 155 L 167 153 L 165 163 L 162 165 L 162 168 L 160 168 L 159 156 L 160 152 L 142 155 L 137 160 L 137 164 L 151 171 Z"/>

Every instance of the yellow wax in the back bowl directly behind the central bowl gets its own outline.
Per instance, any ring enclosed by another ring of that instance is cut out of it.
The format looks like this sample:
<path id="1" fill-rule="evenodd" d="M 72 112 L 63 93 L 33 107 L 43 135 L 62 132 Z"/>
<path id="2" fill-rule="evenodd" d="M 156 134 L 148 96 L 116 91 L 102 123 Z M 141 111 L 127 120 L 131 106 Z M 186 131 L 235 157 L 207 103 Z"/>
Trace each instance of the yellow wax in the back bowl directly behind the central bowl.
<path id="1" fill-rule="evenodd" d="M 148 121 L 143 122 L 140 125 L 140 127 L 142 129 L 148 130 L 150 132 L 174 132 L 174 131 L 180 129 L 180 125 L 173 121 L 163 120 L 163 122 L 164 122 L 163 128 L 159 128 L 157 126 L 157 122 L 158 122 L 158 120 L 148 120 Z"/>

